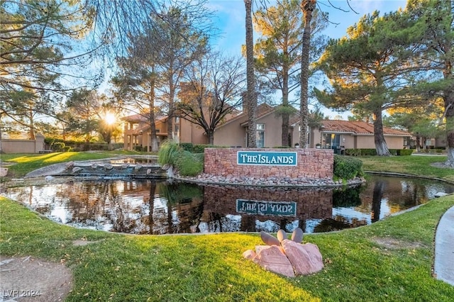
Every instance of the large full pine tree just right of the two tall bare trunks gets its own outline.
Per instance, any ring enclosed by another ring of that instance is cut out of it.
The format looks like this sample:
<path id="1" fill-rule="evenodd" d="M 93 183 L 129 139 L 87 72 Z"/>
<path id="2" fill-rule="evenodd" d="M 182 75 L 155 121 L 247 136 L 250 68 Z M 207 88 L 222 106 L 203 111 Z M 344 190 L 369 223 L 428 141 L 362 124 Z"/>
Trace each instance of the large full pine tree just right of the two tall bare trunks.
<path id="1" fill-rule="evenodd" d="M 397 106 L 414 106 L 409 84 L 417 76 L 413 54 L 406 46 L 408 35 L 393 31 L 401 14 L 363 16 L 347 30 L 347 36 L 330 40 L 319 67 L 331 88 L 316 96 L 325 106 L 372 113 L 377 155 L 390 155 L 383 135 L 382 113 Z M 397 34 L 396 34 L 397 33 Z"/>

